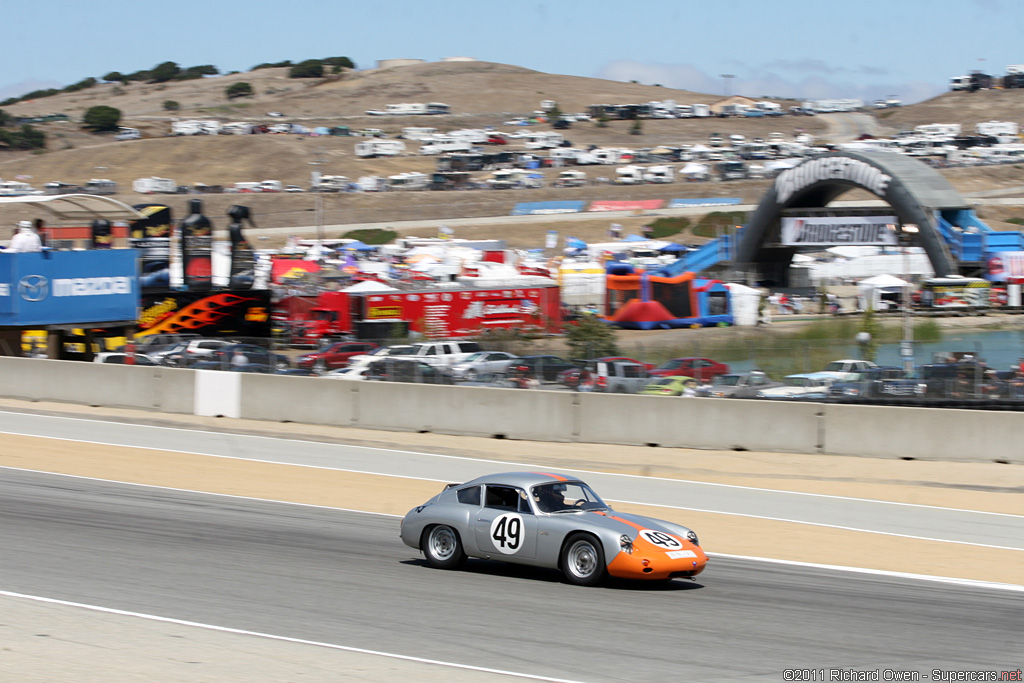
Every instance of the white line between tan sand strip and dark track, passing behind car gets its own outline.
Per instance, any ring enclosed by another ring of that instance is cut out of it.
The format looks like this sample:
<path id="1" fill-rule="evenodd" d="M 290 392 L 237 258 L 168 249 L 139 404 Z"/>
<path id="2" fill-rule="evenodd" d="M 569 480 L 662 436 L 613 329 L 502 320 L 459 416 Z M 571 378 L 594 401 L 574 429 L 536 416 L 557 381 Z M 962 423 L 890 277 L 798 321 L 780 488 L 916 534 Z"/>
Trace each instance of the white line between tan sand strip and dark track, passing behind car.
<path id="1" fill-rule="evenodd" d="M 3 467 L 3 466 L 0 466 L 0 469 L 13 470 L 13 471 L 16 471 L 16 472 L 32 472 L 34 474 L 48 474 L 48 475 L 51 475 L 51 476 L 69 477 L 69 478 L 72 478 L 72 479 L 86 479 L 88 481 L 102 481 L 104 483 L 116 483 L 116 484 L 122 484 L 122 485 L 125 485 L 125 486 L 139 486 L 139 487 L 142 487 L 142 488 L 158 488 L 160 490 L 173 490 L 173 492 L 184 493 L 184 494 L 199 494 L 201 496 L 218 496 L 218 497 L 221 497 L 221 498 L 229 498 L 229 499 L 236 499 L 236 500 L 242 500 L 242 501 L 253 501 L 253 502 L 256 502 L 256 503 L 276 503 L 279 505 L 291 505 L 291 506 L 300 507 L 300 508 L 313 508 L 313 509 L 317 509 L 317 510 L 336 510 L 338 512 L 352 512 L 352 513 L 360 514 L 360 515 L 376 515 L 378 517 L 391 517 L 393 519 L 399 519 L 399 518 L 401 518 L 401 517 L 404 516 L 404 515 L 395 515 L 395 514 L 391 514 L 391 513 L 388 513 L 388 512 L 371 512 L 371 511 L 367 511 L 367 510 L 355 510 L 355 509 L 352 509 L 352 508 L 336 508 L 336 507 L 332 507 L 332 506 L 328 506 L 328 505 L 313 505 L 313 504 L 310 504 L 310 503 L 294 503 L 294 502 L 291 502 L 291 501 L 278 501 L 278 500 L 273 500 L 273 499 L 269 499 L 269 498 L 253 498 L 253 497 L 250 497 L 250 496 L 236 496 L 233 494 L 215 494 L 215 493 L 211 493 L 211 492 L 207 492 L 207 490 L 195 490 L 193 488 L 175 488 L 175 487 L 172 487 L 172 486 L 158 486 L 158 485 L 155 485 L 155 484 L 136 483 L 134 481 L 119 481 L 117 479 L 100 479 L 100 478 L 97 478 L 97 477 L 87 477 L 87 476 L 81 476 L 81 475 L 78 475 L 78 474 L 62 474 L 62 473 L 59 473 L 59 472 L 45 472 L 45 471 L 42 471 L 42 470 L 30 470 L 30 469 L 25 469 L 25 468 L 20 468 L 20 467 Z M 637 505 L 647 505 L 647 504 L 646 503 L 638 503 Z M 653 507 L 662 507 L 662 506 L 653 506 Z M 946 542 L 946 543 L 954 543 L 954 542 Z M 1016 550 L 1016 548 L 1011 548 L 1011 550 Z M 1024 586 L 1018 586 L 1016 584 L 1000 584 L 1000 583 L 996 583 L 996 582 L 977 581 L 977 580 L 974 580 L 974 579 L 957 579 L 955 577 L 933 577 L 931 574 L 924 574 L 924 573 L 907 573 L 907 572 L 903 572 L 903 571 L 889 571 L 887 569 L 868 569 L 868 568 L 865 568 L 865 567 L 845 566 L 845 565 L 842 565 L 842 564 L 818 564 L 818 563 L 814 563 L 814 562 L 800 562 L 800 561 L 797 561 L 797 560 L 781 560 L 781 559 L 776 559 L 776 558 L 772 558 L 772 557 L 756 557 L 756 556 L 753 556 L 753 555 L 729 555 L 729 554 L 726 554 L 726 553 L 713 553 L 713 552 L 707 552 L 707 554 L 710 557 L 725 557 L 725 558 L 730 558 L 730 559 L 748 560 L 748 561 L 751 561 L 751 562 L 770 562 L 770 563 L 774 563 L 774 564 L 787 564 L 787 565 L 792 565 L 792 566 L 810 567 L 810 568 L 816 568 L 816 569 L 831 569 L 831 570 L 835 570 L 835 571 L 852 571 L 854 573 L 870 573 L 870 574 L 878 574 L 878 575 L 883 575 L 883 577 L 896 577 L 896 578 L 900 578 L 900 579 L 918 579 L 918 580 L 921 580 L 921 581 L 932 581 L 932 582 L 939 582 L 939 583 L 944 583 L 944 584 L 956 584 L 956 585 L 959 585 L 959 586 L 971 586 L 971 587 L 976 587 L 976 588 L 993 588 L 993 589 L 1000 589 L 1000 590 L 1024 592 Z M 3 594 L 3 591 L 0 591 L 0 594 Z"/>

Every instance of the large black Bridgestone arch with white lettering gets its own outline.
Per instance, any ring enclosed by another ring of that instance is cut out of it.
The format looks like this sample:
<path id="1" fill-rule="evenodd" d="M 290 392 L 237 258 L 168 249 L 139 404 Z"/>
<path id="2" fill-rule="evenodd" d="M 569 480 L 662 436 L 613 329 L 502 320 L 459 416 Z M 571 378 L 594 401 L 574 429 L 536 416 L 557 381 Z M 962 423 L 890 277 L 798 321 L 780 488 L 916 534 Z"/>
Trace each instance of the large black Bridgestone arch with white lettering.
<path id="1" fill-rule="evenodd" d="M 743 229 L 736 263 L 756 265 L 768 279 L 781 278 L 796 249 L 779 247 L 779 217 L 787 209 L 820 209 L 844 193 L 859 188 L 891 208 L 904 224 L 918 226 L 936 274 L 956 272 L 956 264 L 938 231 L 936 212 L 967 209 L 967 202 L 935 169 L 893 153 L 833 152 L 782 171 Z"/>

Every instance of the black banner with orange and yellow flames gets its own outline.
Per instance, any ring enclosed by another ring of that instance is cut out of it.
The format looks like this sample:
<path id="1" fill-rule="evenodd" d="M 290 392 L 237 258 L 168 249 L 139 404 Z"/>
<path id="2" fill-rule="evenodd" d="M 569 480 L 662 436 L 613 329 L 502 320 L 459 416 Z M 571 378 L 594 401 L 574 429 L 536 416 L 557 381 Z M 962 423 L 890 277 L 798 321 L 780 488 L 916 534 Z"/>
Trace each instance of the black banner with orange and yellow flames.
<path id="1" fill-rule="evenodd" d="M 147 292 L 136 336 L 196 333 L 203 337 L 269 337 L 268 290 Z"/>

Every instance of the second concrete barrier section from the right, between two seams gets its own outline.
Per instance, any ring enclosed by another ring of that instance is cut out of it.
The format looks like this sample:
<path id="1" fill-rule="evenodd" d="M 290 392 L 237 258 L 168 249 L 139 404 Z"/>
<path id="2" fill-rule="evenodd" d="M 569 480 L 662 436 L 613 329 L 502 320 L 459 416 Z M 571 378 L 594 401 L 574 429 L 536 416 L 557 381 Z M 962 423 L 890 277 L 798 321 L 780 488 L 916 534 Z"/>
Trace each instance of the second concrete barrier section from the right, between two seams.
<path id="1" fill-rule="evenodd" d="M 585 393 L 579 440 L 819 453 L 820 412 L 816 403 Z"/>

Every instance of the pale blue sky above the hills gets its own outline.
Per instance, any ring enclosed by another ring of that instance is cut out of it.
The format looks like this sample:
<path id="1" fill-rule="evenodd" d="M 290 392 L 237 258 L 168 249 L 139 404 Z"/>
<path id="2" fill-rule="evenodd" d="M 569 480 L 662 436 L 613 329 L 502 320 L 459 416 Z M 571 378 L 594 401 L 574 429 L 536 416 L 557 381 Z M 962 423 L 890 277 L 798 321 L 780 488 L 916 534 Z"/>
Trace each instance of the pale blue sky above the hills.
<path id="1" fill-rule="evenodd" d="M 1020 0 L 51 0 L 5 13 L 0 98 L 167 60 L 226 73 L 459 55 L 713 94 L 910 103 L 951 76 L 1024 63 L 1022 36 Z"/>

